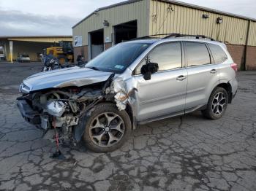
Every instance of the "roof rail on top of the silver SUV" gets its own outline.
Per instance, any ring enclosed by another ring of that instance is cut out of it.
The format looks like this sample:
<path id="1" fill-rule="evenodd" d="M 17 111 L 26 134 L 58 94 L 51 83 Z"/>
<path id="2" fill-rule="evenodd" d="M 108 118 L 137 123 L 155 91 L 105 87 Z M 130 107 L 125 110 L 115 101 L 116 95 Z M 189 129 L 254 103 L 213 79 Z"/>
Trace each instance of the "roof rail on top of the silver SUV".
<path id="1" fill-rule="evenodd" d="M 151 38 L 154 36 L 162 36 L 165 35 L 165 37 L 163 37 L 162 39 L 168 39 L 170 37 L 174 37 L 174 38 L 179 38 L 179 37 L 195 37 L 196 39 L 202 38 L 202 39 L 211 39 L 211 41 L 215 41 L 213 38 L 209 37 L 209 36 L 204 36 L 204 35 L 194 35 L 194 34 L 153 34 L 153 35 L 148 35 L 148 36 L 141 36 L 135 39 L 131 39 L 131 40 L 138 40 L 138 39 L 147 39 L 147 38 Z M 157 37 L 159 38 L 159 37 Z M 160 38 L 159 38 L 160 39 Z"/>

